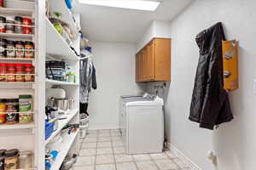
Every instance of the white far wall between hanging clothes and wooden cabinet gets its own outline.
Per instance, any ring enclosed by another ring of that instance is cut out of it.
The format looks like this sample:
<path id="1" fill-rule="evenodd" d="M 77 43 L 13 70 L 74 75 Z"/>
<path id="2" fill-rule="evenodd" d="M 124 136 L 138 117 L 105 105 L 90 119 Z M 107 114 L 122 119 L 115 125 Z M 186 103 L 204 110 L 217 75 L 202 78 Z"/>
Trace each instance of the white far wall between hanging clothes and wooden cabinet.
<path id="1" fill-rule="evenodd" d="M 118 128 L 119 96 L 137 94 L 134 44 L 90 42 L 98 88 L 89 100 L 90 128 Z"/>

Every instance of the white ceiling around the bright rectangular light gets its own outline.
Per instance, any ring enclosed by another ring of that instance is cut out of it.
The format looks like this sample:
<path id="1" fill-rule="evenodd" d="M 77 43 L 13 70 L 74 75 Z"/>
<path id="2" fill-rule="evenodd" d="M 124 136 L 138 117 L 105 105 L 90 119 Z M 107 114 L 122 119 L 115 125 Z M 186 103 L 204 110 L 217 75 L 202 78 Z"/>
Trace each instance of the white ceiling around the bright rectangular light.
<path id="1" fill-rule="evenodd" d="M 161 0 L 154 12 L 93 6 L 75 2 L 82 31 L 90 41 L 137 42 L 153 20 L 173 20 L 193 0 Z"/>

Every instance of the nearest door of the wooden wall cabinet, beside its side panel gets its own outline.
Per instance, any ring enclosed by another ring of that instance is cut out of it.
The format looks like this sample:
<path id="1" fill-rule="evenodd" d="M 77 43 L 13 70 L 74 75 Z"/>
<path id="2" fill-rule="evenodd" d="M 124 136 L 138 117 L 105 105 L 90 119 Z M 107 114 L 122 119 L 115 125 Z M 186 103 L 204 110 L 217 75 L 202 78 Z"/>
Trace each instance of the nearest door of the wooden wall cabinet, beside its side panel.
<path id="1" fill-rule="evenodd" d="M 148 80 L 154 80 L 154 41 L 150 42 L 147 47 L 148 51 Z"/>

